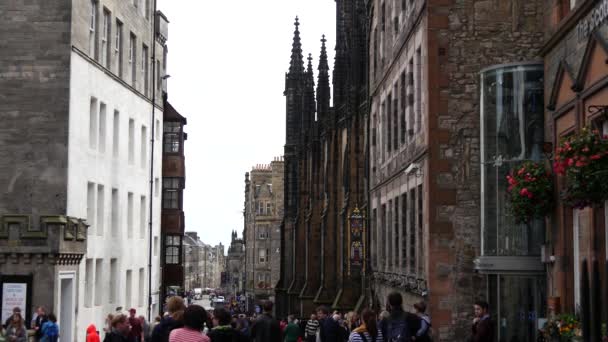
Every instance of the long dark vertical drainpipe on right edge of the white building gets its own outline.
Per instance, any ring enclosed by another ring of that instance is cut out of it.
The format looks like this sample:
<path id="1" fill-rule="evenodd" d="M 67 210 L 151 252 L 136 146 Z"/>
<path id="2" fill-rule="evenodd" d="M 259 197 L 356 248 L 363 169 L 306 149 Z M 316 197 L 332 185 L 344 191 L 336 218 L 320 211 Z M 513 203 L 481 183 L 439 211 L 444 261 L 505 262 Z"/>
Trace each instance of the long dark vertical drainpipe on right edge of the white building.
<path id="1" fill-rule="evenodd" d="M 150 192 L 149 192 L 149 214 L 148 214 L 148 322 L 151 321 L 152 316 L 152 241 L 153 229 L 152 220 L 154 218 L 154 136 L 156 135 L 155 123 L 155 110 L 156 110 L 156 92 L 158 91 L 158 85 L 156 84 L 156 0 L 154 0 L 154 12 L 152 19 L 152 123 L 150 124 Z"/>

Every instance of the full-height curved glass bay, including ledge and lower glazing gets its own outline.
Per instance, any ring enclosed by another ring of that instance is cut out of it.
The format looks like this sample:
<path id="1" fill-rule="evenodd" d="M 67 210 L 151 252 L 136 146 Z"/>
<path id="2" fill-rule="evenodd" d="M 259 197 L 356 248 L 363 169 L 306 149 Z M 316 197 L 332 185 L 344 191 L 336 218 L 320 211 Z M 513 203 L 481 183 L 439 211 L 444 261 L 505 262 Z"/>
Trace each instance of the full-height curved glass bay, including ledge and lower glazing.
<path id="1" fill-rule="evenodd" d="M 498 341 L 536 341 L 546 313 L 541 263 L 544 220 L 516 224 L 506 176 L 526 160 L 540 161 L 544 144 L 542 64 L 509 64 L 481 72 L 481 231 L 476 261 L 487 275 Z"/>

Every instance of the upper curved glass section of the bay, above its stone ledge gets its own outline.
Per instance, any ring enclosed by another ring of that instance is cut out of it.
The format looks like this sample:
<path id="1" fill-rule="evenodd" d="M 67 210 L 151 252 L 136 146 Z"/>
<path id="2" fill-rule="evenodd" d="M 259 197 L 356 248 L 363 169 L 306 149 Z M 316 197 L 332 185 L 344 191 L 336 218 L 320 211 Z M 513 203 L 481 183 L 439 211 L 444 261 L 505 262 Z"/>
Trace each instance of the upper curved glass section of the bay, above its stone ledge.
<path id="1" fill-rule="evenodd" d="M 539 255 L 544 222 L 515 224 L 506 176 L 522 161 L 542 159 L 542 65 L 493 68 L 481 77 L 483 254 Z"/>

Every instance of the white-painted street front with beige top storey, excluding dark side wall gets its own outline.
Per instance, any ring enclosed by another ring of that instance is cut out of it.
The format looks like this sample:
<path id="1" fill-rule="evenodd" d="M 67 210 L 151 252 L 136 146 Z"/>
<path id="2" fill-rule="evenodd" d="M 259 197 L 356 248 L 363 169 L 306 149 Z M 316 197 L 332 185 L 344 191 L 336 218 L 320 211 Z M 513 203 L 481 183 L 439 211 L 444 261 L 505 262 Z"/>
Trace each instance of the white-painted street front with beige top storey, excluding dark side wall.
<path id="1" fill-rule="evenodd" d="M 78 281 L 82 341 L 84 327 L 103 326 L 118 307 L 158 312 L 167 37 L 150 0 L 74 1 L 72 13 L 67 213 L 90 225 Z"/>

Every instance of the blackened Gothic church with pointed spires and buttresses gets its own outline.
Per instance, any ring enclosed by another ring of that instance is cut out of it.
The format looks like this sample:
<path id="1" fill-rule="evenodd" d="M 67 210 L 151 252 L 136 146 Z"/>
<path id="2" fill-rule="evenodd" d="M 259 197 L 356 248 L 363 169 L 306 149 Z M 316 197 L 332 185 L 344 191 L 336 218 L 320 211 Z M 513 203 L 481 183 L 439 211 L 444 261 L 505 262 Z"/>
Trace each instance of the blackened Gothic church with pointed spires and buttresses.
<path id="1" fill-rule="evenodd" d="M 367 300 L 364 262 L 351 265 L 349 245 L 349 217 L 367 205 L 365 2 L 338 0 L 336 14 L 333 106 L 325 39 L 315 92 L 312 57 L 305 68 L 297 18 L 285 77 L 285 215 L 276 289 L 281 317 L 305 317 L 321 304 L 361 308 Z"/>

